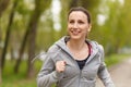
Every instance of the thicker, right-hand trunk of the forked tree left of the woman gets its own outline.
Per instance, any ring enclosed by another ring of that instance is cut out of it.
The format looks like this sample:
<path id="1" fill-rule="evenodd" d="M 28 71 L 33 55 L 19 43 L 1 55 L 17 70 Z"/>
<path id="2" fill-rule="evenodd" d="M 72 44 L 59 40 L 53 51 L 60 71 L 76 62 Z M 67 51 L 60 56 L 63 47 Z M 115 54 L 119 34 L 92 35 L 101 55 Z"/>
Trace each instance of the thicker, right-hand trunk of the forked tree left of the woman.
<path id="1" fill-rule="evenodd" d="M 34 14 L 31 17 L 28 29 L 28 61 L 27 61 L 27 77 L 31 78 L 34 76 L 34 64 L 32 63 L 33 57 L 35 55 L 35 38 L 36 38 L 36 29 L 38 20 L 40 17 L 40 11 L 38 12 L 38 4 L 36 3 L 36 8 L 34 10 Z"/>

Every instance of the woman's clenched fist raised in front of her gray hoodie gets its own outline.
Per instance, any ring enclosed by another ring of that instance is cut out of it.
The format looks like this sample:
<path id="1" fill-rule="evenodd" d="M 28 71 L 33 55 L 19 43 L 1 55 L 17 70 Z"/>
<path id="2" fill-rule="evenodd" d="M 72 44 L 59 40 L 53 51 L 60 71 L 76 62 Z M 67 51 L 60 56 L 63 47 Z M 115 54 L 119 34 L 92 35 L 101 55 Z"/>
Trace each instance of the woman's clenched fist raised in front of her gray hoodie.
<path id="1" fill-rule="evenodd" d="M 66 70 L 66 61 L 57 61 L 56 71 L 62 73 L 64 72 L 64 70 Z"/>

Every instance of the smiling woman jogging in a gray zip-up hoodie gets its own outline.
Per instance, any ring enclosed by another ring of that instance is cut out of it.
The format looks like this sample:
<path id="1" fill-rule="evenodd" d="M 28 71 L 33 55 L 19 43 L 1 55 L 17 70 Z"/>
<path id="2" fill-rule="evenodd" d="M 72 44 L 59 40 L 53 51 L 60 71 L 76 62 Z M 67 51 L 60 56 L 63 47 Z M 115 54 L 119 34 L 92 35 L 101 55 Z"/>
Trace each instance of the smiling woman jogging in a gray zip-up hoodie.
<path id="1" fill-rule="evenodd" d="M 38 74 L 38 87 L 95 87 L 96 77 L 105 87 L 115 87 L 104 62 L 104 49 L 86 39 L 91 15 L 84 8 L 73 8 L 68 15 L 68 34 L 55 42 Z"/>

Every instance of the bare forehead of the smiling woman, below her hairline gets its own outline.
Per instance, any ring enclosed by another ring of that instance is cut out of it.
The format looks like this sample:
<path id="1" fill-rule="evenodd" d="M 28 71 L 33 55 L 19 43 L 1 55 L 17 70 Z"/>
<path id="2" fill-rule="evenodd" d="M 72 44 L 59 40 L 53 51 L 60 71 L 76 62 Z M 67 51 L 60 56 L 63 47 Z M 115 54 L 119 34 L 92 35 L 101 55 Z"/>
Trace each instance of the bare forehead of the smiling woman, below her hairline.
<path id="1" fill-rule="evenodd" d="M 87 15 L 82 12 L 82 11 L 73 11 L 69 14 L 69 20 L 70 18 L 82 18 L 82 20 L 87 20 Z"/>

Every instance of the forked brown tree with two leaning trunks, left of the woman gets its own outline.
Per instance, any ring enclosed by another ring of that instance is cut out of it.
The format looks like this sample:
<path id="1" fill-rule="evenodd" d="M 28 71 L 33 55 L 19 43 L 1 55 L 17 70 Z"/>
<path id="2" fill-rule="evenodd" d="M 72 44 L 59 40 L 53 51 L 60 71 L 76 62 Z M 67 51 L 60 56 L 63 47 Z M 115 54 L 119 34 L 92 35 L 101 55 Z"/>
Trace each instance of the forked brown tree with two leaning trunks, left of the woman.
<path id="1" fill-rule="evenodd" d="M 19 72 L 19 66 L 22 60 L 22 55 L 25 49 L 26 42 L 28 42 L 28 61 L 27 61 L 27 76 L 32 77 L 33 76 L 33 64 L 31 61 L 33 60 L 33 57 L 35 55 L 35 38 L 36 38 L 36 32 L 37 32 L 37 24 L 39 21 L 39 17 L 41 13 L 50 5 L 51 0 L 45 1 L 45 0 L 35 0 L 35 10 L 33 14 L 31 15 L 28 26 L 26 29 L 26 33 L 24 35 L 22 46 L 20 49 L 20 54 L 17 62 L 14 67 L 14 72 Z"/>

